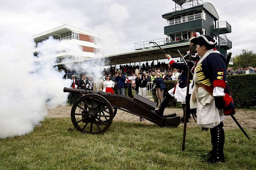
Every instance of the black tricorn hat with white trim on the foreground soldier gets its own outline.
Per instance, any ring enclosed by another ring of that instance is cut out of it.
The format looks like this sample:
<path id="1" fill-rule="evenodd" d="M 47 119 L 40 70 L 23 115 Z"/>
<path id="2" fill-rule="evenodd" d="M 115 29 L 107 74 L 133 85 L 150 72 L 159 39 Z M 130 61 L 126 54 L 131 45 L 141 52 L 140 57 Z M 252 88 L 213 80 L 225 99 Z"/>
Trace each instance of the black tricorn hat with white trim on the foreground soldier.
<path id="1" fill-rule="evenodd" d="M 199 32 L 196 32 L 194 34 L 194 37 L 192 37 L 191 39 L 189 39 L 189 42 L 197 45 L 197 44 L 201 44 L 201 45 L 215 45 L 217 43 L 217 40 L 212 38 L 209 35 L 200 35 Z"/>

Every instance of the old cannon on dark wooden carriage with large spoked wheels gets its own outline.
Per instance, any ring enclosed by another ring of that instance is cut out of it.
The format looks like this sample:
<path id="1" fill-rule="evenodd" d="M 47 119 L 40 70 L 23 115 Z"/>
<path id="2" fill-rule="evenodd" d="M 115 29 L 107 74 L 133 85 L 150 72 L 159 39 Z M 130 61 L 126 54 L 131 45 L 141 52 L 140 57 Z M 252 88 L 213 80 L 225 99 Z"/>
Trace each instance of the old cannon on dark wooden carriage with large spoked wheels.
<path id="1" fill-rule="evenodd" d="M 156 103 L 139 96 L 131 99 L 127 96 L 107 92 L 64 88 L 64 92 L 79 95 L 71 109 L 71 121 L 77 131 L 90 134 L 104 133 L 112 124 L 117 109 L 139 116 L 160 127 L 177 127 L 180 117 L 175 113 L 158 116 L 151 112 Z"/>

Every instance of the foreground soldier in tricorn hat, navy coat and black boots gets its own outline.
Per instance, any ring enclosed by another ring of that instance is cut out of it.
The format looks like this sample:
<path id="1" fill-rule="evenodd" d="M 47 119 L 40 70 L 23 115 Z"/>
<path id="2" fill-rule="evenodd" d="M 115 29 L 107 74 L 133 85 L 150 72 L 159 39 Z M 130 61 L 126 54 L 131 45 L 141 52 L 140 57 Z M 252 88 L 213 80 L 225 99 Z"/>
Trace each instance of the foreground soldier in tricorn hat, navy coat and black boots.
<path id="1" fill-rule="evenodd" d="M 196 45 L 201 57 L 194 66 L 193 89 L 190 109 L 197 109 L 197 124 L 210 128 L 212 151 L 206 163 L 225 162 L 224 159 L 224 115 L 235 114 L 235 106 L 226 77 L 226 58 L 213 48 L 216 39 L 198 32 L 189 41 Z"/>

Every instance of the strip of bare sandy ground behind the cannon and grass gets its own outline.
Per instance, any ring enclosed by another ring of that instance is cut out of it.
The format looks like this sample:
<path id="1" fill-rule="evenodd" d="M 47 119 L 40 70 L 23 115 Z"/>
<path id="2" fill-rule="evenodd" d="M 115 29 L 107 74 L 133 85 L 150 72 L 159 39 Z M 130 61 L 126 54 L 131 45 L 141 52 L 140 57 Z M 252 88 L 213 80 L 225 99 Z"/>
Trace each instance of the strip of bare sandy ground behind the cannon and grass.
<path id="1" fill-rule="evenodd" d="M 48 110 L 47 117 L 70 117 L 70 111 L 72 106 L 58 106 L 55 109 Z M 178 116 L 183 116 L 182 109 L 171 109 L 165 108 L 164 114 L 176 113 Z M 241 126 L 245 129 L 256 129 L 256 110 L 236 110 L 235 117 L 237 121 L 241 124 Z M 124 112 L 122 110 L 118 110 L 116 113 L 116 117 L 113 121 L 123 120 L 127 122 L 140 122 L 138 116 L 132 115 L 130 113 Z M 143 120 L 143 124 L 153 124 L 148 120 Z M 183 126 L 183 124 L 180 124 Z M 197 126 L 193 118 L 189 119 L 189 126 Z M 225 129 L 235 129 L 238 128 L 234 120 L 230 116 L 226 116 L 224 120 L 224 128 Z"/>

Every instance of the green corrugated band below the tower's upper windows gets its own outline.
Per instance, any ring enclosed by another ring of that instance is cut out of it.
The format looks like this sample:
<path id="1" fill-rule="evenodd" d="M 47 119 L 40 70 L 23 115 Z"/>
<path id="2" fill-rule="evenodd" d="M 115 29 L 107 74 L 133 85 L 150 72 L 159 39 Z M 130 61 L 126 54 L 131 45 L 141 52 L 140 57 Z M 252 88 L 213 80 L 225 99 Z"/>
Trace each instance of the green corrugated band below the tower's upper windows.
<path id="1" fill-rule="evenodd" d="M 189 16 L 188 16 L 189 17 Z M 164 34 L 171 34 L 175 32 L 182 32 L 186 30 L 193 30 L 196 28 L 202 28 L 203 27 L 203 19 L 195 19 L 188 22 L 182 22 L 179 24 L 174 25 L 168 25 L 164 27 Z"/>

